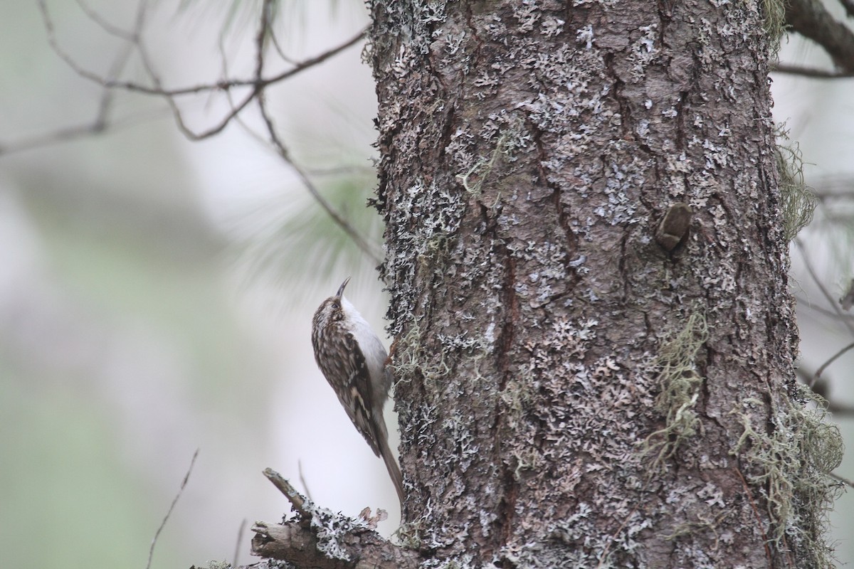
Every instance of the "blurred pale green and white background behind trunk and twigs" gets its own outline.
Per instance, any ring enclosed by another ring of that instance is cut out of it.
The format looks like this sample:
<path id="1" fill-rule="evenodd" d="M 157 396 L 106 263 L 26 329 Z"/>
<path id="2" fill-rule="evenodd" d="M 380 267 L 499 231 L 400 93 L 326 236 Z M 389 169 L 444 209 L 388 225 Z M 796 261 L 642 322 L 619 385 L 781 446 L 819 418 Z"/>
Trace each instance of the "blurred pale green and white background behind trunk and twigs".
<path id="1" fill-rule="evenodd" d="M 231 75 L 250 76 L 260 3 L 233 5 L 232 14 L 231 3 L 155 3 L 144 38 L 164 84 L 219 78 L 220 46 Z M 108 73 L 120 38 L 78 3 L 48 6 L 62 49 Z M 84 6 L 125 28 L 136 13 L 130 2 Z M 285 2 L 278 40 L 299 59 L 366 23 L 357 0 Z M 249 562 L 246 531 L 238 542 L 243 522 L 278 520 L 289 509 L 261 477 L 264 467 L 305 480 L 315 499 L 346 514 L 386 508 L 381 529 L 393 531 L 395 493 L 382 463 L 319 379 L 309 343 L 314 308 L 348 275 L 354 304 L 383 328 L 374 261 L 252 136 L 257 113 L 189 142 L 161 99 L 118 92 L 111 128 L 58 140 L 63 129 L 91 124 L 102 90 L 51 51 L 38 3 L 3 3 L 0 31 L 3 566 L 144 567 L 197 448 L 154 567 L 232 560 L 236 547 L 237 560 Z M 269 102 L 325 196 L 378 243 L 379 220 L 363 207 L 376 183 L 376 101 L 360 49 L 272 89 Z M 781 54 L 821 56 L 794 41 Z M 126 77 L 144 81 L 138 57 Z M 774 93 L 776 119 L 788 119 L 814 163 L 807 182 L 851 179 L 851 81 L 780 77 Z M 229 108 L 222 96 L 178 104 L 200 131 Z M 802 234 L 834 290 L 851 276 L 843 260 L 851 224 L 828 213 L 839 211 L 820 209 Z M 820 299 L 798 254 L 794 261 L 798 294 L 807 304 Z M 802 310 L 800 321 L 810 370 L 850 341 L 814 311 Z M 839 404 L 854 404 L 851 369 L 851 357 L 828 369 Z M 850 415 L 839 423 L 852 440 Z M 850 454 L 838 472 L 854 478 Z M 845 496 L 833 516 L 842 562 L 854 560 L 852 510 Z"/>

